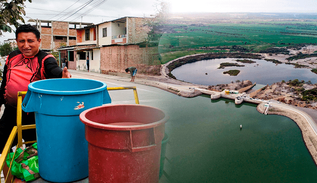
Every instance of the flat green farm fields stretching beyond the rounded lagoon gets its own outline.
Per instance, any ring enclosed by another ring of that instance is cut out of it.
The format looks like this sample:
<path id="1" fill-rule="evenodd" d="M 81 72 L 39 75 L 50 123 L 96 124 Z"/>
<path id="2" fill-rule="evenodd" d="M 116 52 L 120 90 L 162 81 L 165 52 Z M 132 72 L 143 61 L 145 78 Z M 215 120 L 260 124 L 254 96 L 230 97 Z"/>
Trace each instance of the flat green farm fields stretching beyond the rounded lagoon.
<path id="1" fill-rule="evenodd" d="M 316 19 L 230 19 L 195 22 L 170 20 L 160 29 L 156 45 L 162 64 L 175 58 L 206 52 L 259 53 L 273 47 L 317 44 Z M 203 23 L 201 23 L 203 22 Z"/>

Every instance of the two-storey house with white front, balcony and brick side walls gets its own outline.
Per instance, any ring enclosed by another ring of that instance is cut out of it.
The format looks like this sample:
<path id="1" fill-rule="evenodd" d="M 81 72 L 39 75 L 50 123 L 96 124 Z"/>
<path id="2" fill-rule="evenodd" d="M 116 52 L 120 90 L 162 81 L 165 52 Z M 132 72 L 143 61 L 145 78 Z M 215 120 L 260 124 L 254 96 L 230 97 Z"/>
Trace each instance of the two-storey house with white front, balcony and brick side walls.
<path id="1" fill-rule="evenodd" d="M 68 68 L 87 71 L 86 58 L 90 62 L 90 72 L 124 72 L 130 66 L 138 70 L 157 64 L 157 47 L 139 46 L 147 40 L 145 26 L 147 18 L 123 17 L 97 25 L 77 29 L 76 46 L 64 46 L 57 50 L 69 58 Z M 73 60 L 73 61 L 72 61 Z"/>

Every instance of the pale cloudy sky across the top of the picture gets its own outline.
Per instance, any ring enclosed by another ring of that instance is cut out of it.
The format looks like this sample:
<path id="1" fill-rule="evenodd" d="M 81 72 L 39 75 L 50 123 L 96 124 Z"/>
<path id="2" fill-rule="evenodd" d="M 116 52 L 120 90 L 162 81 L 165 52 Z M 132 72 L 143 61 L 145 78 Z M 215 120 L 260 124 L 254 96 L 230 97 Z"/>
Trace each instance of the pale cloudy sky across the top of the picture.
<path id="1" fill-rule="evenodd" d="M 314 13 L 317 0 L 168 0 L 171 12 L 265 12 Z M 99 24 L 117 18 L 150 17 L 157 12 L 158 0 L 28 0 L 25 21 L 29 19 L 88 22 Z M 82 8 L 82 9 L 81 9 Z M 30 24 L 33 24 L 32 22 Z M 0 42 L 15 38 L 3 33 Z"/>

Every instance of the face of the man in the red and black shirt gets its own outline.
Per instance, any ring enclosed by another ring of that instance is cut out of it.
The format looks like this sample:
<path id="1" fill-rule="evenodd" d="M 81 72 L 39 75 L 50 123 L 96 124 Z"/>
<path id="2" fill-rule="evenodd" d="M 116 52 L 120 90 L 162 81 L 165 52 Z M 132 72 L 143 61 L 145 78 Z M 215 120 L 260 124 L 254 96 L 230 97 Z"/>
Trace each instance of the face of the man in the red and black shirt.
<path id="1" fill-rule="evenodd" d="M 25 57 L 34 57 L 39 52 L 41 38 L 37 39 L 34 33 L 19 33 L 15 40 Z"/>

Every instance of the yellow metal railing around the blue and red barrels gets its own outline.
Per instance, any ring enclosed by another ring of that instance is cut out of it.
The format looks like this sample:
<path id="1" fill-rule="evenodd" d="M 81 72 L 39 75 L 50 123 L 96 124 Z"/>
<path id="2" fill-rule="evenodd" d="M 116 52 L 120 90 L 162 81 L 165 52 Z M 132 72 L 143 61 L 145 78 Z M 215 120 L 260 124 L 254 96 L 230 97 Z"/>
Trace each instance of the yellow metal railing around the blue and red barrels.
<path id="1" fill-rule="evenodd" d="M 107 88 L 108 91 L 111 90 L 129 90 L 132 89 L 133 93 L 134 93 L 134 100 L 136 104 L 140 104 L 139 103 L 139 97 L 138 97 L 138 93 L 137 93 L 137 88 L 135 86 L 128 86 L 128 87 L 109 87 Z M 16 136 L 16 134 L 18 134 L 18 144 L 16 146 L 16 149 L 14 151 L 14 154 L 16 152 L 16 150 L 23 146 L 24 144 L 34 144 L 36 143 L 36 141 L 29 141 L 29 142 L 22 142 L 22 130 L 27 130 L 27 129 L 32 129 L 32 128 L 36 128 L 35 124 L 34 125 L 22 125 L 22 96 L 26 95 L 26 91 L 22 91 L 22 92 L 18 92 L 18 99 L 17 99 L 17 109 L 16 109 L 16 126 L 13 127 L 11 134 L 8 138 L 8 140 L 6 141 L 6 144 L 2 150 L 1 156 L 0 156 L 0 172 L 2 172 L 3 170 L 3 175 L 4 175 L 4 183 L 12 183 L 13 182 L 13 176 L 11 176 L 11 166 L 12 166 L 12 162 L 13 162 L 13 158 L 12 161 L 10 162 L 10 166 L 7 167 L 6 166 L 6 157 L 10 152 L 10 148 L 13 144 L 13 140 Z M 14 157 L 14 155 L 13 155 Z M 10 158 L 11 159 L 11 158 Z"/>

